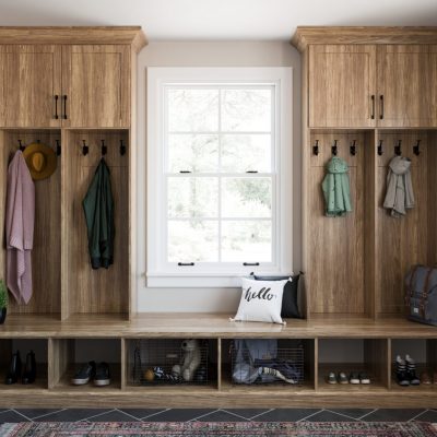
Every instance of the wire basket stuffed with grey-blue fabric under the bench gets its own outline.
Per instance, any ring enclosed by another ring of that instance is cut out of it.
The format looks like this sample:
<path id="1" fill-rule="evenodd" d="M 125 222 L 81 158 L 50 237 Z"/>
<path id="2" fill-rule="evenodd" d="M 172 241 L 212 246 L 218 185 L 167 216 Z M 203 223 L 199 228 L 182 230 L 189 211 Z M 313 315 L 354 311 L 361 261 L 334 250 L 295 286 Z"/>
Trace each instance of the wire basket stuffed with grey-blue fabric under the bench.
<path id="1" fill-rule="evenodd" d="M 270 340 L 235 340 L 231 345 L 231 375 L 235 385 L 300 386 L 305 380 L 304 363 L 302 343 L 280 347 Z"/>

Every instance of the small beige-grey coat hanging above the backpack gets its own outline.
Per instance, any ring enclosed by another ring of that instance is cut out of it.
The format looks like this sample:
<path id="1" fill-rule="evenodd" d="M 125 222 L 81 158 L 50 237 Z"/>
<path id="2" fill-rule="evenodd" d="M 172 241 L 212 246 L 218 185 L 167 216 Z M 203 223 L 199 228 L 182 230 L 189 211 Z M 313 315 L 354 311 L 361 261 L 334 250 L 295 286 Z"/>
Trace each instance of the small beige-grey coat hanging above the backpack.
<path id="1" fill-rule="evenodd" d="M 411 161 L 408 157 L 394 156 L 390 161 L 383 208 L 390 210 L 393 217 L 402 217 L 408 209 L 414 208 Z"/>

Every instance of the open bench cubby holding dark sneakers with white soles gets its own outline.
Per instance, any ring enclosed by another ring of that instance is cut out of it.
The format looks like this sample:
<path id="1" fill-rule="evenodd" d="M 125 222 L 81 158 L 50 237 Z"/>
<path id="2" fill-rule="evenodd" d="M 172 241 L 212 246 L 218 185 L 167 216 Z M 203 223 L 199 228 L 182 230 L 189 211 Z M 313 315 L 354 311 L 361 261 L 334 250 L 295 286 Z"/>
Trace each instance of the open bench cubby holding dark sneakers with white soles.
<path id="1" fill-rule="evenodd" d="M 121 388 L 121 340 L 120 339 L 50 339 L 49 388 L 55 390 L 105 391 Z M 71 378 L 85 363 L 109 365 L 110 385 L 95 387 L 93 381 L 74 386 Z"/>

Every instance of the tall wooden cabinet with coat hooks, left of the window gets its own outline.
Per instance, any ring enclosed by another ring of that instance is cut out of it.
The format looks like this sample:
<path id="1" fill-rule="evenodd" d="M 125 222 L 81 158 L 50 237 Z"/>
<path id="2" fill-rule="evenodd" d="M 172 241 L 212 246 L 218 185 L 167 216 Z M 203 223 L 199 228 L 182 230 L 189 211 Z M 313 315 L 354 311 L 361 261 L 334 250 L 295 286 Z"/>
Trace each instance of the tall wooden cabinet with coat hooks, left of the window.
<path id="1" fill-rule="evenodd" d="M 58 155 L 54 175 L 35 182 L 33 297 L 28 305 L 11 302 L 9 317 L 129 319 L 135 66 L 144 45 L 133 26 L 0 28 L 1 228 L 12 154 L 40 142 Z M 115 200 L 115 261 L 95 271 L 82 200 L 102 157 Z M 0 271 L 4 277 L 4 241 Z"/>

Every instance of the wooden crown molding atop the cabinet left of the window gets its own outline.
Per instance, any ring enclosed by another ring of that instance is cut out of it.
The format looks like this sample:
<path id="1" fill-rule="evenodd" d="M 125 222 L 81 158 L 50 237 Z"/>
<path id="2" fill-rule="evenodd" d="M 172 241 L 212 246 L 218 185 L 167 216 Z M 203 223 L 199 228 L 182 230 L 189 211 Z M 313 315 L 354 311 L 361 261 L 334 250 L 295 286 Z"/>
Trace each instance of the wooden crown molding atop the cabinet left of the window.
<path id="1" fill-rule="evenodd" d="M 127 44 L 140 51 L 141 26 L 0 26 L 0 44 Z"/>

